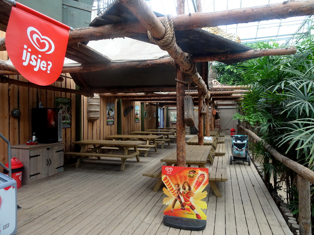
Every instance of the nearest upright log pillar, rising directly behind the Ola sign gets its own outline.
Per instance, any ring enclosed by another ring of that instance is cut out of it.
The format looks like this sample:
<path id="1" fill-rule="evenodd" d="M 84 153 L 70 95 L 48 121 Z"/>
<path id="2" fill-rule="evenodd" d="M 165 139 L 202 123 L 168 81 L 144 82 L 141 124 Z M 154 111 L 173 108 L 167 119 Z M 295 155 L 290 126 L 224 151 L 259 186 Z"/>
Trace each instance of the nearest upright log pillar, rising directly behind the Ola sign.
<path id="1" fill-rule="evenodd" d="M 177 66 L 177 79 L 184 81 L 183 72 Z M 177 92 L 177 166 L 185 166 L 185 123 L 184 123 L 184 95 L 185 85 L 182 82 L 176 83 Z"/>

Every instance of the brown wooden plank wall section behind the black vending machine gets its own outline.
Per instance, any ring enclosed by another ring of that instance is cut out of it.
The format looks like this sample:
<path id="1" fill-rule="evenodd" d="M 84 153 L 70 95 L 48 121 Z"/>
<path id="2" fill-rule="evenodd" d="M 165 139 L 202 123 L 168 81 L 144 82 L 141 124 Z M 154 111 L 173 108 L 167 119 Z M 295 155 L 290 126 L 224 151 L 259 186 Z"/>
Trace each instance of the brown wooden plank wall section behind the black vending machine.
<path id="1" fill-rule="evenodd" d="M 4 38 L 5 33 L 0 31 L 0 38 Z M 0 60 L 8 60 L 6 51 L 0 52 Z M 69 76 L 69 74 L 63 74 Z M 8 76 L 10 79 L 28 82 L 21 75 Z M 63 82 L 54 82 L 51 86 L 75 89 L 72 79 L 64 78 Z M 75 141 L 75 95 L 65 92 L 48 91 L 46 89 L 36 89 L 24 86 L 16 86 L 8 83 L 0 83 L 0 133 L 7 138 L 11 145 L 25 144 L 32 138 L 31 109 L 38 107 L 42 102 L 44 108 L 55 107 L 55 97 L 67 97 L 71 99 L 71 128 L 62 129 L 63 141 L 65 141 L 64 151 L 71 151 L 71 142 Z M 11 117 L 11 111 L 18 108 L 21 111 L 19 118 Z M 8 162 L 8 145 L 0 139 L 0 161 L 3 164 Z M 3 172 L 2 167 L 0 172 Z"/>

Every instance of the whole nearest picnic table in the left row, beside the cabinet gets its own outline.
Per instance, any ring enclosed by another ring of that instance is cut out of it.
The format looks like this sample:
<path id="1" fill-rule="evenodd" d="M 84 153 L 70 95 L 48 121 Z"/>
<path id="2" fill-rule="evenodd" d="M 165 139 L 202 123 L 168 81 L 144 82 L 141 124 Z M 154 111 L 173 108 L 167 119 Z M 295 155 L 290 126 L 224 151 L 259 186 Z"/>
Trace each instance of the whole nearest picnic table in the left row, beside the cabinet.
<path id="1" fill-rule="evenodd" d="M 137 147 L 141 144 L 145 144 L 144 141 L 122 141 L 122 140 L 81 140 L 73 142 L 72 144 L 78 144 L 81 149 L 80 152 L 68 152 L 67 155 L 72 157 L 78 156 L 75 167 L 79 167 L 83 156 L 97 157 L 99 160 L 101 157 L 113 157 L 121 158 L 122 165 L 121 170 L 124 170 L 125 163 L 127 159 L 136 157 L 137 162 L 139 162 L 139 151 Z M 94 148 L 85 151 L 85 147 L 93 145 Z M 114 146 L 123 151 L 123 154 L 112 154 L 112 153 L 98 153 L 98 150 L 104 146 Z M 134 149 L 134 152 L 129 151 L 130 148 Z"/>

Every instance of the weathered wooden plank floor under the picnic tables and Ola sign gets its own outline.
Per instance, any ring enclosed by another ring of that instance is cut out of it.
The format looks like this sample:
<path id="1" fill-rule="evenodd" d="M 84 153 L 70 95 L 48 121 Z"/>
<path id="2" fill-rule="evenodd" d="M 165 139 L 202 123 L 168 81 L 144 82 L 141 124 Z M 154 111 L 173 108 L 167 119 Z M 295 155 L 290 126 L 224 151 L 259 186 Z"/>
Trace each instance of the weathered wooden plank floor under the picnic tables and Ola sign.
<path id="1" fill-rule="evenodd" d="M 186 139 L 191 138 L 186 136 Z M 230 138 L 225 139 L 226 157 Z M 176 144 L 128 159 L 124 171 L 117 159 L 84 160 L 65 166 L 55 177 L 18 189 L 19 235 L 49 234 L 292 234 L 253 164 L 227 165 L 228 181 L 219 182 L 217 198 L 208 185 L 207 225 L 203 231 L 163 224 L 163 191 L 153 192 L 156 178 L 144 177 Z M 210 167 L 209 164 L 206 166 Z"/>

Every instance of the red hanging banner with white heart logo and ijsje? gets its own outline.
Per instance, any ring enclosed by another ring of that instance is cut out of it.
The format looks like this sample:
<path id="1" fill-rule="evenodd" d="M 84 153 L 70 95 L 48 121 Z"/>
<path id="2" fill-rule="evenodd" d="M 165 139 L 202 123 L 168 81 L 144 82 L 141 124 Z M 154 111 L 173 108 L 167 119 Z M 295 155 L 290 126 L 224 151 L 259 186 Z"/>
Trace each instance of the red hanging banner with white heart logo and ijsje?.
<path id="1" fill-rule="evenodd" d="M 42 86 L 60 76 L 70 27 L 20 3 L 12 6 L 5 37 L 8 56 L 27 80 Z"/>

